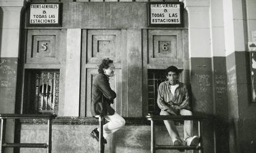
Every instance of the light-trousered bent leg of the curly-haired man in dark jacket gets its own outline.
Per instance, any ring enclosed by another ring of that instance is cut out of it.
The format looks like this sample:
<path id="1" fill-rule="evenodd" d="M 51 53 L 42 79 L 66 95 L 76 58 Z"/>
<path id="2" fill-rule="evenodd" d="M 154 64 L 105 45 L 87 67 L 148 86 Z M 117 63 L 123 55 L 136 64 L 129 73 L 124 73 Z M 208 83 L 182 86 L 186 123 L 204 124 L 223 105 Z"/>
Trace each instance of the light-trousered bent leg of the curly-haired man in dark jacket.
<path id="1" fill-rule="evenodd" d="M 109 134 L 114 133 L 115 131 L 122 128 L 126 120 L 122 118 L 119 114 L 114 113 L 114 115 L 107 115 L 104 117 L 106 120 L 108 120 L 108 123 L 103 125 L 103 136 L 104 138 L 107 138 Z"/>

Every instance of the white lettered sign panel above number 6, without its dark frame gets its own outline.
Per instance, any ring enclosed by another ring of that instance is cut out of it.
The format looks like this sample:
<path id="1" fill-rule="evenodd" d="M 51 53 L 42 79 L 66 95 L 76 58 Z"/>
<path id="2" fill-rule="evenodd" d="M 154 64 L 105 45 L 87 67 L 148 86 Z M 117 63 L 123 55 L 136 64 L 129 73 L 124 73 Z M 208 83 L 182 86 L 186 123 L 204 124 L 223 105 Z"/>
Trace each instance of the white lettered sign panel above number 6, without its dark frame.
<path id="1" fill-rule="evenodd" d="M 181 24 L 180 4 L 151 4 L 151 24 Z"/>

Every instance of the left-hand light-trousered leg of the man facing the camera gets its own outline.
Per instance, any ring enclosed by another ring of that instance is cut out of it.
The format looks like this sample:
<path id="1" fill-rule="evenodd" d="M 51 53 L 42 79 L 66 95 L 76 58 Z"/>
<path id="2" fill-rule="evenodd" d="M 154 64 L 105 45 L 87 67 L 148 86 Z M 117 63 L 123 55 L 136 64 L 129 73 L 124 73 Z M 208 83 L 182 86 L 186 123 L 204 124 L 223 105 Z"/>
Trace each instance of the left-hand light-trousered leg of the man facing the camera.
<path id="1" fill-rule="evenodd" d="M 169 114 L 168 112 L 166 112 L 164 110 L 161 110 L 160 115 L 171 115 L 171 114 Z M 173 140 L 173 143 L 177 139 L 179 141 L 181 141 L 181 138 L 179 138 L 179 133 L 177 131 L 177 128 L 174 125 L 174 122 L 172 120 L 164 120 L 164 125 L 166 126 L 166 129 L 167 129 L 169 135 L 171 136 L 171 139 Z"/>

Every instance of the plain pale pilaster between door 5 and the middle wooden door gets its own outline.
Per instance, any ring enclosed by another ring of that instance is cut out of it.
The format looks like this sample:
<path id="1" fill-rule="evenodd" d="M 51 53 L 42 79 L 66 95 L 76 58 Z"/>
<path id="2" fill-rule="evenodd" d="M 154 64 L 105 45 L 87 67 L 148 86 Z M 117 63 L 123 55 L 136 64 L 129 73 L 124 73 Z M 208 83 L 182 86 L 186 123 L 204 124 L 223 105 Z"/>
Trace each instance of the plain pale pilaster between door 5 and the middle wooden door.
<path id="1" fill-rule="evenodd" d="M 79 116 L 81 29 L 67 29 L 65 99 L 62 116 Z"/>

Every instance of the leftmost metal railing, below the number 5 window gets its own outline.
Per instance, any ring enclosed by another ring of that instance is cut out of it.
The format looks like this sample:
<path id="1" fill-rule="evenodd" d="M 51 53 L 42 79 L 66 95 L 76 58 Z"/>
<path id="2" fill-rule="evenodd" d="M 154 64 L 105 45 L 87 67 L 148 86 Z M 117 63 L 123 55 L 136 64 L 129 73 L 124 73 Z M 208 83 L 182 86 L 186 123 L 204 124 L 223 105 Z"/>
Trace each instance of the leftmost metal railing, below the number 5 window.
<path id="1" fill-rule="evenodd" d="M 40 147 L 46 148 L 48 153 L 51 153 L 51 137 L 52 137 L 52 120 L 56 118 L 56 114 L 0 114 L 0 153 L 4 151 L 5 147 Z M 6 143 L 5 134 L 6 130 L 6 120 L 7 119 L 46 119 L 48 120 L 48 142 L 47 143 Z"/>

